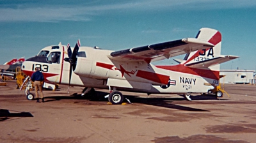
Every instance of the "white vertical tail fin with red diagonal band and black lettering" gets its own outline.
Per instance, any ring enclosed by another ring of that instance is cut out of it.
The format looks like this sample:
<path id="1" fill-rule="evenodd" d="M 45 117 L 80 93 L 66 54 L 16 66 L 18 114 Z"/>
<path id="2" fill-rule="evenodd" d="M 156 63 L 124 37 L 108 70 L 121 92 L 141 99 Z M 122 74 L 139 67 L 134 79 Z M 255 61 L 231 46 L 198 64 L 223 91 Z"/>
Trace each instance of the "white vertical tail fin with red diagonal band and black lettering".
<path id="1" fill-rule="evenodd" d="M 208 41 L 215 45 L 209 49 L 197 50 L 195 52 L 191 52 L 186 54 L 184 57 L 184 61 L 181 64 L 193 64 L 198 62 L 204 62 L 209 59 L 213 59 L 214 57 L 220 56 L 221 52 L 221 33 L 215 29 L 210 28 L 202 28 L 196 35 L 196 38 L 204 41 Z M 220 64 L 216 64 L 214 66 L 210 66 L 211 70 L 220 70 Z"/>

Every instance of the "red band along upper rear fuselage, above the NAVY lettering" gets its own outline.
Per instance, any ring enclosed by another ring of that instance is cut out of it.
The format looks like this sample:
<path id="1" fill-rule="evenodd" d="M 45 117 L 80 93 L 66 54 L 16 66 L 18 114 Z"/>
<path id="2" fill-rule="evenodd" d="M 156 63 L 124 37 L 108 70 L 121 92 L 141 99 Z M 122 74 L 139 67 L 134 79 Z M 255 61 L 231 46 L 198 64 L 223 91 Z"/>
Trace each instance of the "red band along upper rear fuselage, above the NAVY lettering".
<path id="1" fill-rule="evenodd" d="M 163 68 L 165 70 L 170 70 L 173 72 L 180 72 L 180 73 L 188 73 L 192 75 L 198 75 L 200 77 L 205 77 L 209 79 L 219 80 L 220 79 L 220 72 L 219 71 L 212 71 L 212 70 L 204 70 L 198 68 L 189 68 L 188 66 L 184 66 L 182 64 L 178 64 L 175 66 L 156 66 L 157 68 Z M 172 76 L 172 75 L 171 75 Z"/>

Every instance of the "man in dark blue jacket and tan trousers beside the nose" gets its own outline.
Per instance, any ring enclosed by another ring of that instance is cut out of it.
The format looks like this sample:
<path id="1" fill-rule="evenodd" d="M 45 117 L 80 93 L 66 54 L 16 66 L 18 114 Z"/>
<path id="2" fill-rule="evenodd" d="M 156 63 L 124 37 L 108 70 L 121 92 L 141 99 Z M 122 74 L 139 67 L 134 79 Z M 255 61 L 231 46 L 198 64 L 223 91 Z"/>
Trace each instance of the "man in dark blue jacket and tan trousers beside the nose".
<path id="1" fill-rule="evenodd" d="M 42 99 L 42 102 L 44 102 L 44 94 L 42 91 L 42 82 L 44 82 L 44 75 L 42 72 L 40 72 L 40 68 L 35 68 L 36 72 L 33 73 L 33 75 L 31 76 L 31 80 L 34 82 L 34 86 L 35 86 L 35 91 L 36 91 L 36 102 L 40 102 L 39 98 L 38 98 L 38 89 L 39 89 L 39 93 L 40 93 L 40 98 Z"/>

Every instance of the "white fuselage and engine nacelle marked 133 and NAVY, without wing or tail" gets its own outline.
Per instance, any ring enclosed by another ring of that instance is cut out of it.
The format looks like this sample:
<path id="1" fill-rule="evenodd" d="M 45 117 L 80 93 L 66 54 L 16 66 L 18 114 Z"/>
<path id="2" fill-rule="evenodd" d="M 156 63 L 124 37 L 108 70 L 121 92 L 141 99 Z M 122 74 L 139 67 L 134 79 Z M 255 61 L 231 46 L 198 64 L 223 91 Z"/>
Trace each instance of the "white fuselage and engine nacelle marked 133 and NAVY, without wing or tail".
<path id="1" fill-rule="evenodd" d="M 60 60 L 55 63 L 49 59 L 48 54 L 47 62 L 31 59 L 22 64 L 22 70 L 31 75 L 36 67 L 40 67 L 45 82 L 68 85 L 70 63 L 64 61 L 68 57 L 66 47 L 60 45 L 59 49 L 45 47 L 42 50 L 48 50 L 50 55 L 51 52 L 60 52 Z M 116 90 L 141 93 L 207 93 L 214 88 L 214 84 L 218 84 L 218 78 L 202 77 L 200 73 L 188 72 L 191 68 L 163 68 L 143 61 L 114 61 L 107 56 L 113 52 L 111 50 L 80 47 L 79 52 L 84 54 L 77 57 L 76 69 L 72 71 L 70 79 L 72 86 L 104 89 L 115 87 Z M 211 71 L 205 72 L 212 74 Z"/>

